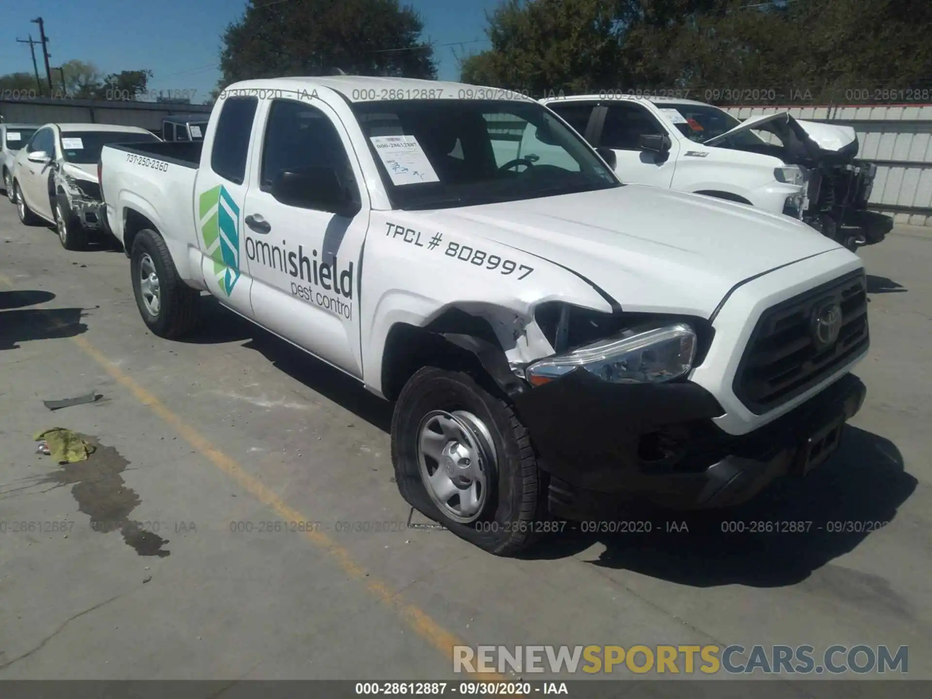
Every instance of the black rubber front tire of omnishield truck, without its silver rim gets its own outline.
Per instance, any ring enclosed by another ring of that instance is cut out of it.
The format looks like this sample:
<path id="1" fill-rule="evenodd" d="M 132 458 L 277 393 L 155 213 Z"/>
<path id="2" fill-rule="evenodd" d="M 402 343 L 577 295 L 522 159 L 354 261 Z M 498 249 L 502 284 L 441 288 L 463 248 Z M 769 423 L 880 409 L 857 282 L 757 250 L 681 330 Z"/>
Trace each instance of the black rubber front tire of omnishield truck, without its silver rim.
<path id="1" fill-rule="evenodd" d="M 498 455 L 478 518 L 461 524 L 428 494 L 418 465 L 421 420 L 432 411 L 465 410 L 483 421 Z M 454 534 L 495 555 L 516 555 L 537 539 L 541 502 L 537 459 L 528 430 L 506 401 L 470 375 L 435 366 L 419 369 L 405 384 L 391 418 L 391 461 L 404 500 Z"/>

